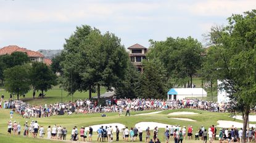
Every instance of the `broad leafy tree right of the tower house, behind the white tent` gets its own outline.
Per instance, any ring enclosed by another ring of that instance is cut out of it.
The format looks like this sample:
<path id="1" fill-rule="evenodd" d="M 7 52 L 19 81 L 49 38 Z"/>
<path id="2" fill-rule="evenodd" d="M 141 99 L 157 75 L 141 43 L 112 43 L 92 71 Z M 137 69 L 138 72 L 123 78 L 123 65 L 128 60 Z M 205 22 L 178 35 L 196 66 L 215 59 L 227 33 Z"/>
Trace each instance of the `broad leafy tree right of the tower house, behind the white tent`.
<path id="1" fill-rule="evenodd" d="M 192 87 L 192 76 L 202 64 L 202 44 L 192 37 L 186 39 L 168 37 L 166 41 L 150 41 L 149 59 L 158 59 L 167 70 L 168 81 L 172 85 Z M 180 81 L 180 82 L 179 82 Z"/>

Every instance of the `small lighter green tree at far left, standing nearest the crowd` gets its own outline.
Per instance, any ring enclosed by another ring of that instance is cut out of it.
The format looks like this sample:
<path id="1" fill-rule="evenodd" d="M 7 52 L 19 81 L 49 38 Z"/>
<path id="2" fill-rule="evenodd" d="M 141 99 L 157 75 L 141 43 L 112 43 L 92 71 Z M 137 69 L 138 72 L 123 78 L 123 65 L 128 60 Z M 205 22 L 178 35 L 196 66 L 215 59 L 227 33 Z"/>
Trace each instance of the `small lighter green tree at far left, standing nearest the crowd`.
<path id="1" fill-rule="evenodd" d="M 30 90 L 30 65 L 23 64 L 4 70 L 4 79 L 7 91 L 14 92 L 19 96 L 28 93 Z"/>

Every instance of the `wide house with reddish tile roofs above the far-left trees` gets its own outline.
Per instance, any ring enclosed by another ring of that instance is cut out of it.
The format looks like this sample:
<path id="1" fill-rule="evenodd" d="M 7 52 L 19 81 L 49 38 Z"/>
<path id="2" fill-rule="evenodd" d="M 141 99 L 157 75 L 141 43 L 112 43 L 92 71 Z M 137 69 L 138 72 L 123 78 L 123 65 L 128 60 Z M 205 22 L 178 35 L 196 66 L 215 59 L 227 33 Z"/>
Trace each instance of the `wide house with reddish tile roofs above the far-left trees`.
<path id="1" fill-rule="evenodd" d="M 13 52 L 26 53 L 28 58 L 30 58 L 32 62 L 38 61 L 38 62 L 44 62 L 47 65 L 51 64 L 51 60 L 45 59 L 43 54 L 32 51 L 32 50 L 28 50 L 27 48 L 19 47 L 17 45 L 9 45 L 0 49 L 0 55 L 11 54 Z"/>

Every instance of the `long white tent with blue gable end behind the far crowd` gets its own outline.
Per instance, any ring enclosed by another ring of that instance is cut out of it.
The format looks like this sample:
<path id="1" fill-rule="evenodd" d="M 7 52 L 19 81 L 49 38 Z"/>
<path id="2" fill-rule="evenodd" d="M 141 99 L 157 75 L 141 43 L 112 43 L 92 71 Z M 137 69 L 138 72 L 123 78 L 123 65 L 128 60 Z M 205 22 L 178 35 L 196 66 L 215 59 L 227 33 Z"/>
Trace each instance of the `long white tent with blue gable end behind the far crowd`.
<path id="1" fill-rule="evenodd" d="M 167 93 L 167 98 L 171 100 L 206 96 L 203 88 L 171 88 Z"/>

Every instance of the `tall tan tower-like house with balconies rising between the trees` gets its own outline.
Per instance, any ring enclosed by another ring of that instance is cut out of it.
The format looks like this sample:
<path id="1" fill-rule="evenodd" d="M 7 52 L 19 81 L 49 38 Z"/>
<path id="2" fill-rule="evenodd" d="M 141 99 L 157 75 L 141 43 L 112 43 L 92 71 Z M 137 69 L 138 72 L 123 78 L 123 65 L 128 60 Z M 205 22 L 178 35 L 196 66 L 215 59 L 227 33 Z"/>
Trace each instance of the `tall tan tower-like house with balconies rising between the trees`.
<path id="1" fill-rule="evenodd" d="M 147 48 L 139 44 L 134 44 L 128 47 L 129 56 L 131 63 L 138 69 L 138 71 L 143 71 L 142 61 L 146 60 Z"/>

